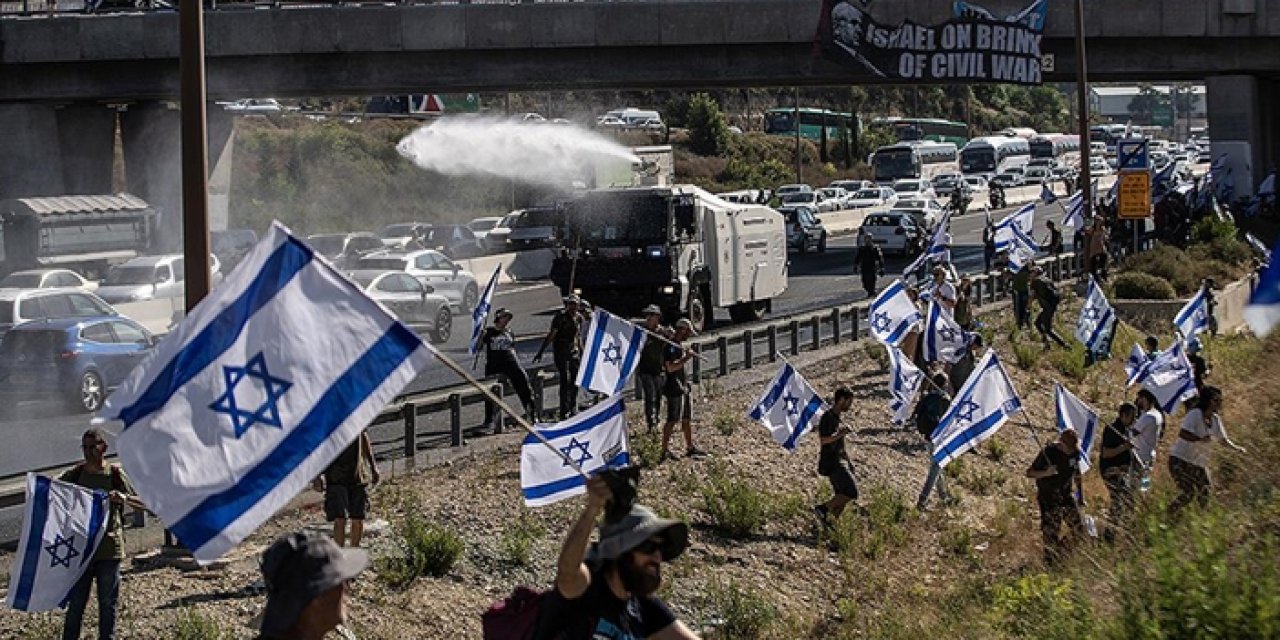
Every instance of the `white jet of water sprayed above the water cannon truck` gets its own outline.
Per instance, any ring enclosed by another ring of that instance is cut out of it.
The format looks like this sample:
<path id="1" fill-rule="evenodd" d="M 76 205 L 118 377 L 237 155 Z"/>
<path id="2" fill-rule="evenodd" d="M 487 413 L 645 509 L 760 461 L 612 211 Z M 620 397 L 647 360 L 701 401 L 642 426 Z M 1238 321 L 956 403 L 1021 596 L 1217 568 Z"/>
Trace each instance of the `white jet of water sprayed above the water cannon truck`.
<path id="1" fill-rule="evenodd" d="M 639 163 L 627 147 L 576 124 L 442 118 L 396 146 L 422 169 L 486 174 L 552 187 L 584 180 L 598 165 Z"/>

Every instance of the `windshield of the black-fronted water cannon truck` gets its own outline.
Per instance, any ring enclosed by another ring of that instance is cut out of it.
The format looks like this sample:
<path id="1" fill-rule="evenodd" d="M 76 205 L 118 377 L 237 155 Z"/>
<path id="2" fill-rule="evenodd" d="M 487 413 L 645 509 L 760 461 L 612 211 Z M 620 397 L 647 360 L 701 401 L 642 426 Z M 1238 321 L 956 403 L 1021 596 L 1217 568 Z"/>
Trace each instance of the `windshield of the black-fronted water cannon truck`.
<path id="1" fill-rule="evenodd" d="M 667 198 L 655 193 L 590 193 L 570 205 L 571 242 L 653 244 L 667 241 Z"/>

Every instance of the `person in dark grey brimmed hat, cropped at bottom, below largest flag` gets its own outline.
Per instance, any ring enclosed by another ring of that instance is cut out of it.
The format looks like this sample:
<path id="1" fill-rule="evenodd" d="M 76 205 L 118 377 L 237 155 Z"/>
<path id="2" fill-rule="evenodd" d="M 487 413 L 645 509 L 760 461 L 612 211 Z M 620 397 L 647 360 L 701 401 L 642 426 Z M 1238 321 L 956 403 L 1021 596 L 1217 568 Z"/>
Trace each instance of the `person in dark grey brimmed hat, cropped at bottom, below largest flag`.
<path id="1" fill-rule="evenodd" d="M 266 611 L 259 640 L 321 640 L 347 622 L 351 581 L 369 566 L 364 549 L 294 532 L 262 552 Z"/>

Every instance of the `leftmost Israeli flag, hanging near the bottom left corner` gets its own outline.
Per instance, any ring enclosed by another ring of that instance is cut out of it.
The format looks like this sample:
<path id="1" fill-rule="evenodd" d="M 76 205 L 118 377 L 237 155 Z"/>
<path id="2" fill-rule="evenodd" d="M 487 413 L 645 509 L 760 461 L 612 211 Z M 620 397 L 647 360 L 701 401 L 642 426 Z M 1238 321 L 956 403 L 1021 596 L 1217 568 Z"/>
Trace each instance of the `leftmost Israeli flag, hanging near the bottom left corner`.
<path id="1" fill-rule="evenodd" d="M 28 612 L 65 607 L 102 541 L 109 513 L 106 492 L 27 474 L 22 532 L 5 603 Z"/>

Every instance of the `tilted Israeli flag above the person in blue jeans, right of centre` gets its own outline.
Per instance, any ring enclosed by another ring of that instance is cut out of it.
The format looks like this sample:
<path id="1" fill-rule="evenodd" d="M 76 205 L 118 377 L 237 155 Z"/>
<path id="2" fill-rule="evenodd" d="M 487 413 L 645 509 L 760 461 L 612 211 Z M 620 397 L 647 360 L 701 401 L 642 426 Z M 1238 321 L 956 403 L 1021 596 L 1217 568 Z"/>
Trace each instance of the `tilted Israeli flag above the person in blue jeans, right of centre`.
<path id="1" fill-rule="evenodd" d="M 933 461 L 947 466 L 1000 430 L 1023 401 L 993 349 L 987 349 L 933 431 Z"/>

